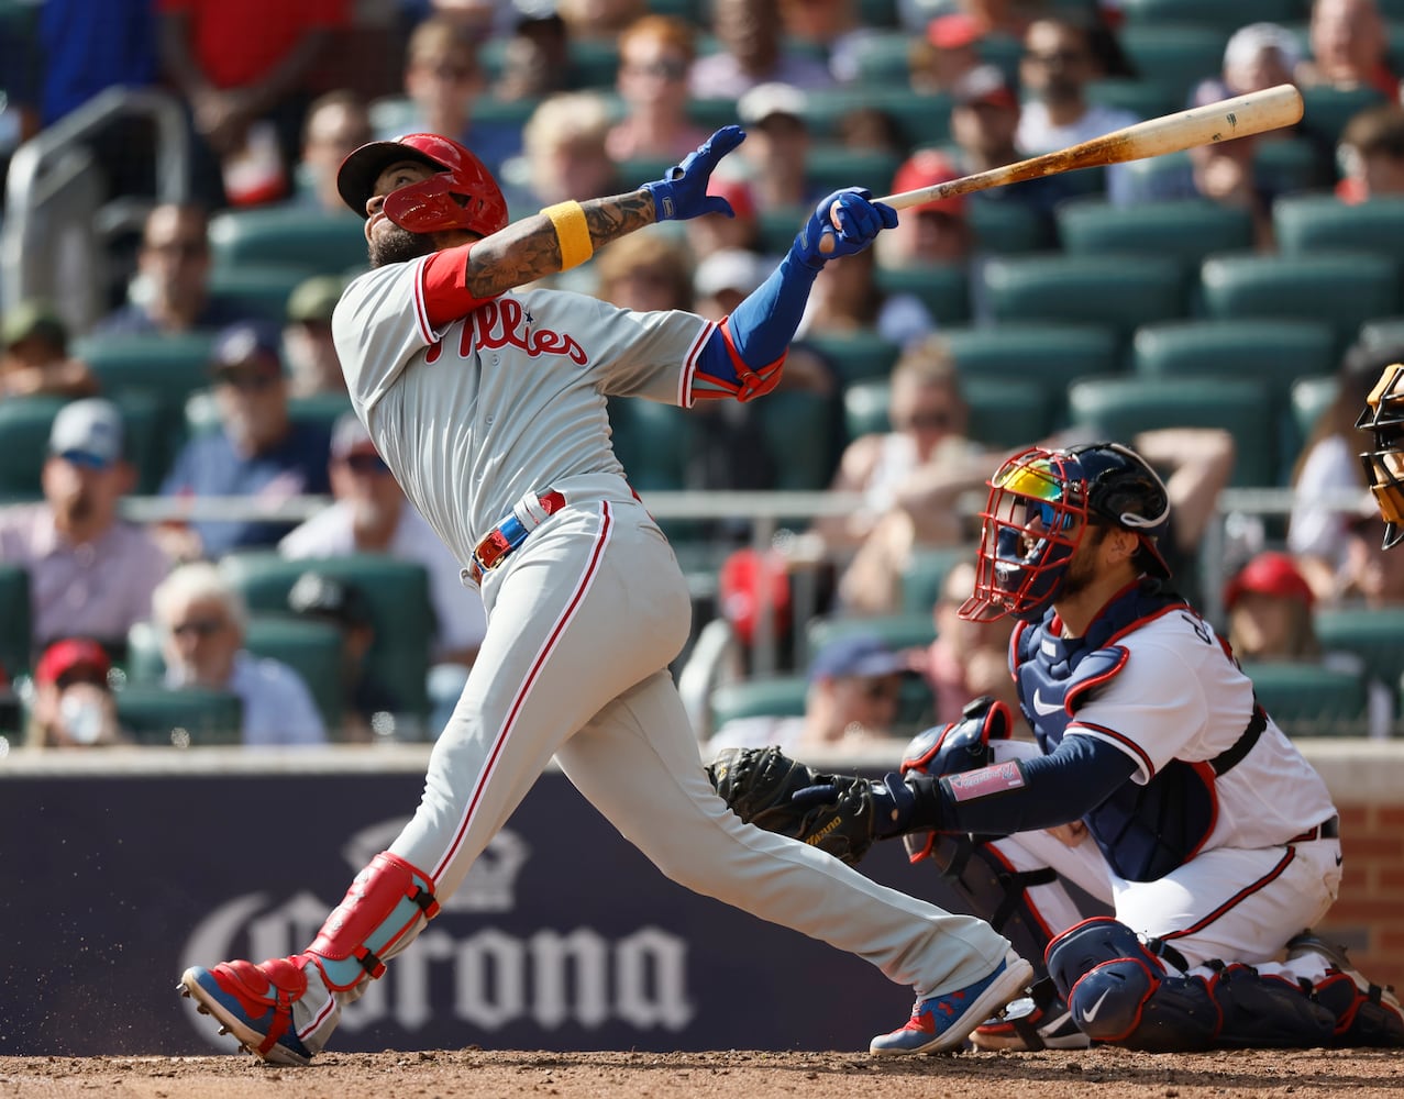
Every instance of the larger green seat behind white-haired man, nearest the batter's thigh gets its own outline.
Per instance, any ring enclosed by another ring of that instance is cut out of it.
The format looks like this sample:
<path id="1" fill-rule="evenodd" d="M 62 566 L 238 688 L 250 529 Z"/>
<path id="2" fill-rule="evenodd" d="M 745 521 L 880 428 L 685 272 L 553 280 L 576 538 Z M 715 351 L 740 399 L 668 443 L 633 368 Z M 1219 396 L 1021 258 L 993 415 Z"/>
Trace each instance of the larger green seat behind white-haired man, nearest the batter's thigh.
<path id="1" fill-rule="evenodd" d="M 375 627 L 366 670 L 404 713 L 427 716 L 434 606 L 423 566 L 373 553 L 286 560 L 263 550 L 230 553 L 219 564 L 256 615 L 285 612 L 288 591 L 306 571 L 355 584 Z"/>

